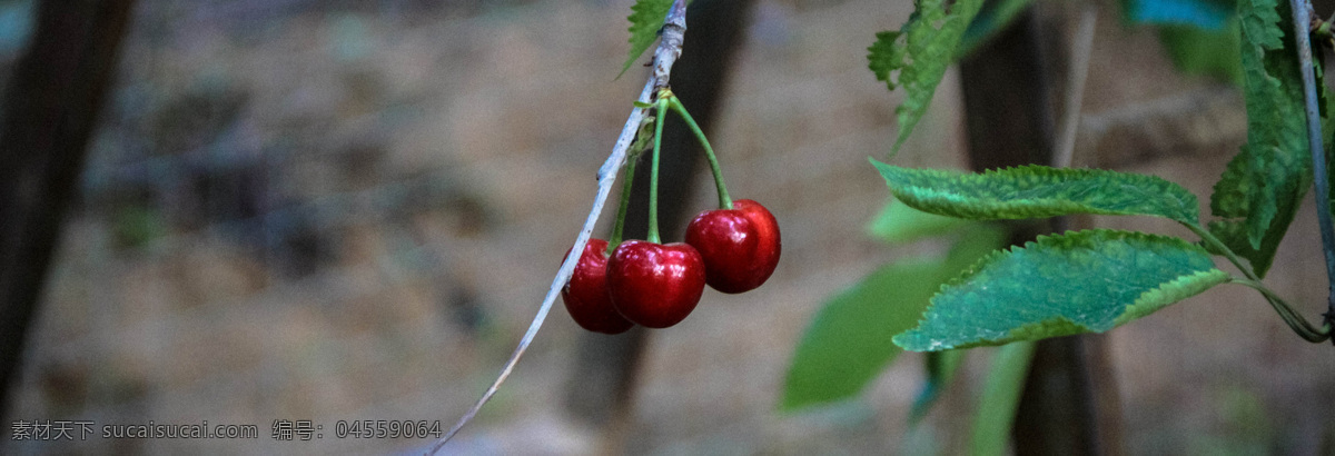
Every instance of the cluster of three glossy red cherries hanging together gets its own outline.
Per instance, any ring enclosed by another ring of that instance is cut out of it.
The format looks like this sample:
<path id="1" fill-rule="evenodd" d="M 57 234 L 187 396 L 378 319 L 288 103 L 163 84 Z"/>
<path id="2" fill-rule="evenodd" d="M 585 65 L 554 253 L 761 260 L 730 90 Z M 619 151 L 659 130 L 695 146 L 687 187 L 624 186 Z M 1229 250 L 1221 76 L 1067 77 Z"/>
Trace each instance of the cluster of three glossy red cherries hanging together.
<path id="1" fill-rule="evenodd" d="M 609 257 L 607 241 L 590 239 L 561 297 L 570 317 L 593 332 L 615 335 L 635 324 L 668 328 L 696 309 L 705 284 L 724 293 L 764 284 L 780 251 L 774 215 L 760 203 L 737 200 L 732 209 L 696 216 L 685 243 L 627 240 Z"/>

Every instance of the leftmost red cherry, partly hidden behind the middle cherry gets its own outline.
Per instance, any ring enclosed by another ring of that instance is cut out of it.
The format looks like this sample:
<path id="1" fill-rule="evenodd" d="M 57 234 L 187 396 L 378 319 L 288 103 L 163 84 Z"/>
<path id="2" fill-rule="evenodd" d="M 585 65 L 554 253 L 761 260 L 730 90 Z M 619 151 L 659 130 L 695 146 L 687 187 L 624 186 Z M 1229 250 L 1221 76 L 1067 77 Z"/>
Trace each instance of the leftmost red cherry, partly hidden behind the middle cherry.
<path id="1" fill-rule="evenodd" d="M 607 241 L 590 239 L 585 244 L 579 263 L 575 263 L 575 272 L 570 276 L 570 283 L 561 289 L 561 300 L 566 303 L 566 311 L 579 327 L 609 335 L 626 332 L 634 323 L 627 321 L 617 308 L 611 305 L 611 295 L 607 293 Z M 566 251 L 570 255 L 570 251 Z"/>

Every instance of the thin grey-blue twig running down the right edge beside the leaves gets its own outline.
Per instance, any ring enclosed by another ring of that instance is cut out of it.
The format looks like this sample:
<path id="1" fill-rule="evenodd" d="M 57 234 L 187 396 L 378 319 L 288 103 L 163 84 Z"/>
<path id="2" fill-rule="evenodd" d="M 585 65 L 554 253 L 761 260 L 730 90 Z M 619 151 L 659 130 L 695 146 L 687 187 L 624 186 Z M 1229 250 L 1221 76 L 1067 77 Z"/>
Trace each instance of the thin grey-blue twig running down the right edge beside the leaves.
<path id="1" fill-rule="evenodd" d="M 1294 9 L 1294 40 L 1298 43 L 1299 72 L 1303 75 L 1303 103 L 1307 109 L 1307 144 L 1312 149 L 1312 177 L 1316 184 L 1316 223 L 1326 252 L 1326 323 L 1335 324 L 1335 223 L 1331 223 L 1330 181 L 1326 176 L 1326 148 L 1322 147 L 1322 117 L 1316 111 L 1316 76 L 1312 71 L 1311 3 L 1290 0 Z"/>

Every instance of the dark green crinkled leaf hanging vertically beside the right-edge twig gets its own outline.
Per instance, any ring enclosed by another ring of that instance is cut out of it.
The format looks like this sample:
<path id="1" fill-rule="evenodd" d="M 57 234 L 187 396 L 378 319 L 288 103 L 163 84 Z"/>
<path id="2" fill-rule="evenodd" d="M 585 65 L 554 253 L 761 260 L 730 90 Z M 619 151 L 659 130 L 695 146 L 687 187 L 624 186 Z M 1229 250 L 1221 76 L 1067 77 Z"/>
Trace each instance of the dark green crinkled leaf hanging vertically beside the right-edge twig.
<path id="1" fill-rule="evenodd" d="M 1215 184 L 1212 224 L 1227 245 L 1251 245 L 1254 268 L 1264 269 L 1311 185 L 1311 157 L 1298 53 L 1292 49 L 1287 1 L 1239 1 L 1247 144 Z M 1242 229 L 1224 228 L 1238 224 Z"/>

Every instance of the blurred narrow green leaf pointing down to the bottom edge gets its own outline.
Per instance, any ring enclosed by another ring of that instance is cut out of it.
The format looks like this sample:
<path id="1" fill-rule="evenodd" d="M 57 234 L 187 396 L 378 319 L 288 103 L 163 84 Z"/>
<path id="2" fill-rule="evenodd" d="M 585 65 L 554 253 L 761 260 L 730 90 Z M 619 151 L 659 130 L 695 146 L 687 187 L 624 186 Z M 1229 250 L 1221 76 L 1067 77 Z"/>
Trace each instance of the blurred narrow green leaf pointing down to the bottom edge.
<path id="1" fill-rule="evenodd" d="M 979 415 L 973 419 L 969 455 L 1000 456 L 1011 448 L 1011 425 L 1024 393 L 1024 380 L 1029 376 L 1035 347 L 1035 343 L 1009 344 L 992 359 L 992 369 L 979 400 Z"/>

